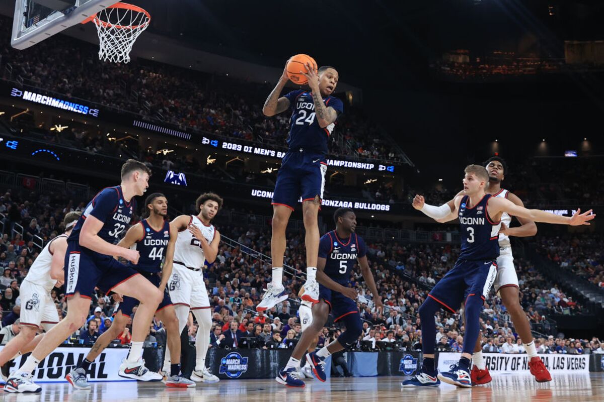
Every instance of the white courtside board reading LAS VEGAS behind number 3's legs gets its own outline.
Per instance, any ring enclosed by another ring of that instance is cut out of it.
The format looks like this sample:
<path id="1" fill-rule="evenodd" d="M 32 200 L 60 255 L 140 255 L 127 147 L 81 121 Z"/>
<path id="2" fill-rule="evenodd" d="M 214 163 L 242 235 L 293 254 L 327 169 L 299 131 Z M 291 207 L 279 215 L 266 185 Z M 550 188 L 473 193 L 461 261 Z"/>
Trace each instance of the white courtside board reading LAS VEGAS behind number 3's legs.
<path id="1" fill-rule="evenodd" d="M 449 371 L 449 366 L 457 363 L 460 353 L 440 353 L 439 371 Z M 529 373 L 527 354 L 483 353 L 484 364 L 491 374 Z M 589 372 L 588 354 L 539 354 L 550 372 Z"/>

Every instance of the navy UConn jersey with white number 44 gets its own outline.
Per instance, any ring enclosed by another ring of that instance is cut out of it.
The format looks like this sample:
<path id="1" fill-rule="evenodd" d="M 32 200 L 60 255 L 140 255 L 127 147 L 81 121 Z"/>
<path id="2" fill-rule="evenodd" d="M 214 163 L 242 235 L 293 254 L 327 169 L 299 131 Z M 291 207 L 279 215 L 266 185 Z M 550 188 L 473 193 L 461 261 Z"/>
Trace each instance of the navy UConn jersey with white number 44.
<path id="1" fill-rule="evenodd" d="M 141 221 L 143 225 L 143 238 L 136 243 L 138 254 L 138 264 L 133 265 L 129 262 L 130 268 L 137 271 L 149 272 L 149 274 L 157 274 L 161 272 L 161 264 L 164 262 L 165 250 L 168 248 L 170 241 L 170 222 L 164 221 L 164 226 L 155 231 L 150 227 L 147 219 Z"/>

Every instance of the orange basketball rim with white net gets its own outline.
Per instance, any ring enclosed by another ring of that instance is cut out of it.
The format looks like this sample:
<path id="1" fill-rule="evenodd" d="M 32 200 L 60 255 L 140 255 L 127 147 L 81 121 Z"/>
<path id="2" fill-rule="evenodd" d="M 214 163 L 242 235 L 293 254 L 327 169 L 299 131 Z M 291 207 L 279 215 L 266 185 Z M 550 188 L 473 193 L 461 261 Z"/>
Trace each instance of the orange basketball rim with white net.
<path id="1" fill-rule="evenodd" d="M 127 3 L 116 3 L 84 20 L 97 27 L 98 58 L 114 63 L 128 63 L 134 41 L 149 27 L 151 16 L 143 8 Z"/>

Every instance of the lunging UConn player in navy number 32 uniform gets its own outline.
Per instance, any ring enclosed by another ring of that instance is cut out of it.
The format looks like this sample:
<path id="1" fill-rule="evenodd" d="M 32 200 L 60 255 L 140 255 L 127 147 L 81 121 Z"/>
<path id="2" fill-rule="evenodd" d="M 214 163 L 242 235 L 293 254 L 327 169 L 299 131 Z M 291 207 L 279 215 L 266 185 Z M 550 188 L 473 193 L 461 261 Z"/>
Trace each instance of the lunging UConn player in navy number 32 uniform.
<path id="1" fill-rule="evenodd" d="M 149 371 L 139 362 L 149 322 L 163 298 L 159 289 L 137 271 L 114 257 L 138 263 L 136 250 L 115 245 L 126 225 L 132 220 L 136 207 L 134 197 L 143 195 L 149 187 L 150 170 L 143 163 L 129 159 L 121 167 L 120 186 L 101 190 L 82 213 L 67 239 L 65 255 L 65 286 L 68 298 L 67 315 L 55 325 L 33 350 L 31 355 L 7 379 L 7 392 L 40 392 L 42 388 L 31 379 L 31 372 L 88 317 L 90 300 L 95 287 L 140 300 L 132 323 L 130 352 L 120 366 L 141 380 L 161 381 L 162 376 Z"/>

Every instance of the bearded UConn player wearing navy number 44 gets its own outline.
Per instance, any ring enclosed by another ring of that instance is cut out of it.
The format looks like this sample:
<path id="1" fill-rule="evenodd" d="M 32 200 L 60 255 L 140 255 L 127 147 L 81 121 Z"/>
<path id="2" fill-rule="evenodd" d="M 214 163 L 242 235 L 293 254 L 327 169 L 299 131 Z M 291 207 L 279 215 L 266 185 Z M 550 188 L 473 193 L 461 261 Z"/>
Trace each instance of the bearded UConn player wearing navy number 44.
<path id="1" fill-rule="evenodd" d="M 165 291 L 165 286 L 172 274 L 172 260 L 174 257 L 174 245 L 178 231 L 165 220 L 168 213 L 168 200 L 161 193 L 153 193 L 147 196 L 143 210 L 143 221 L 138 222 L 129 228 L 126 236 L 117 243 L 120 247 L 131 248 L 136 245 L 135 250 L 140 254 L 138 264 L 129 263 L 128 266 L 135 269 L 151 283 L 158 287 L 164 295 L 164 299 L 159 303 L 155 315 L 164 324 L 167 334 L 167 347 L 170 348 L 172 356 L 175 356 L 170 368 L 170 375 L 167 375 L 165 385 L 171 388 L 194 387 L 195 383 L 182 377 L 180 367 L 181 341 L 178 331 L 178 319 L 176 312 L 170 300 L 169 294 Z M 132 309 L 138 306 L 138 300 L 124 296 L 123 298 L 115 294 L 114 299 L 120 303 L 116 307 L 114 322 L 108 330 L 104 331 L 97 341 L 94 342 L 88 356 L 77 368 L 67 375 L 68 382 L 77 389 L 89 389 L 86 371 L 94 362 L 98 355 L 116 339 L 126 328 L 128 318 L 132 315 Z M 120 372 L 121 377 L 139 378 L 126 372 Z"/>

